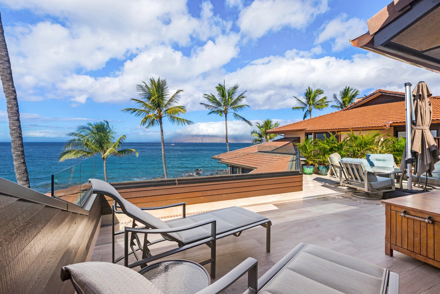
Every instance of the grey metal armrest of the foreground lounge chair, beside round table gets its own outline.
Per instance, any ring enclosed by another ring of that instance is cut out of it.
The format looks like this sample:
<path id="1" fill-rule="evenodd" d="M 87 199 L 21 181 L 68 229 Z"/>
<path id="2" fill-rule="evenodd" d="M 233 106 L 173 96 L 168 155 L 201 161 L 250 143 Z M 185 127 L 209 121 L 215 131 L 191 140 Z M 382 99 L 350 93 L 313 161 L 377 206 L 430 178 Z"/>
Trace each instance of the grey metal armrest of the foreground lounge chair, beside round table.
<path id="1" fill-rule="evenodd" d="M 240 279 L 244 274 L 248 273 L 248 291 L 249 294 L 257 293 L 257 279 L 258 279 L 258 262 L 252 257 L 248 257 L 241 264 L 226 275 L 218 279 L 203 290 L 196 294 L 218 294 L 231 286 L 235 281 Z"/>

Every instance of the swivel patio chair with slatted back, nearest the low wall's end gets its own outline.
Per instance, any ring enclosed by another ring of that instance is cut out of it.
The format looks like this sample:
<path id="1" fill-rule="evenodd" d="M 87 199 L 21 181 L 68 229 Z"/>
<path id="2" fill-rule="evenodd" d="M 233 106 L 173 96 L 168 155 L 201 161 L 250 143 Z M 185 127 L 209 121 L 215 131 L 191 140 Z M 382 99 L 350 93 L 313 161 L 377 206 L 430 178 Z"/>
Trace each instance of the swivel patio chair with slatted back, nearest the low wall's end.
<path id="1" fill-rule="evenodd" d="M 361 191 L 352 192 L 352 195 L 364 199 L 381 199 L 383 192 L 394 191 L 396 182 L 394 173 L 381 173 L 391 177 L 376 176 L 366 159 L 342 158 L 339 162 L 341 186 L 354 187 Z M 343 183 L 343 179 L 345 182 Z M 371 195 L 376 194 L 376 195 Z"/>

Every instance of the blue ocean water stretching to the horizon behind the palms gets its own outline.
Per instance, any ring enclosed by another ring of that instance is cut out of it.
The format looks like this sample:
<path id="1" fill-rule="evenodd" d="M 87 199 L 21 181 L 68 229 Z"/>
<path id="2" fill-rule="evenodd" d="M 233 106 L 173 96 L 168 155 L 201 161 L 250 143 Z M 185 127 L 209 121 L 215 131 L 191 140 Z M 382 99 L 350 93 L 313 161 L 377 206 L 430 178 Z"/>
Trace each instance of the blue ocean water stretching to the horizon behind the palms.
<path id="1" fill-rule="evenodd" d="M 165 156 L 168 177 L 209 176 L 224 172 L 226 165 L 211 159 L 213 155 L 226 152 L 225 143 L 165 143 Z M 96 177 L 103 179 L 103 160 L 95 158 L 70 159 L 58 162 L 58 155 L 64 143 L 25 142 L 26 164 L 31 187 L 48 193 L 51 191 L 51 175 L 55 174 L 55 183 L 66 184 L 66 178 L 81 180 Z M 230 150 L 250 146 L 250 143 L 229 143 Z M 139 152 L 125 158 L 110 156 L 107 159 L 109 182 L 151 180 L 164 177 L 161 143 L 125 143 L 124 148 L 133 148 Z M 81 162 L 81 166 L 69 168 Z M 63 169 L 66 169 L 62 171 Z M 198 172 L 195 173 L 195 170 Z M 201 170 L 199 170 L 201 169 Z M 61 173 L 57 173 L 60 172 Z M 16 182 L 12 161 L 11 143 L 0 142 L 0 177 Z"/>

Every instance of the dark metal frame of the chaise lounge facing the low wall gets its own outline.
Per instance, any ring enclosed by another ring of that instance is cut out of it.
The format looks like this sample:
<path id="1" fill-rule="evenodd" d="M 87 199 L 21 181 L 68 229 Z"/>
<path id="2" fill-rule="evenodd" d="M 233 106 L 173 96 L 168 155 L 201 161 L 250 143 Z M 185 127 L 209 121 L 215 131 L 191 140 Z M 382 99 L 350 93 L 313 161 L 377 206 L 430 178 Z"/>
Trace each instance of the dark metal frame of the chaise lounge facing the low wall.
<path id="1" fill-rule="evenodd" d="M 161 259 L 163 257 L 176 254 L 178 252 L 181 252 L 183 250 L 187 250 L 199 245 L 207 245 L 211 248 L 211 256 L 208 260 L 200 262 L 201 265 L 211 264 L 211 277 L 215 279 L 216 275 L 216 240 L 227 237 L 229 235 L 234 235 L 235 237 L 238 237 L 241 235 L 243 231 L 246 231 L 250 228 L 254 228 L 257 226 L 262 226 L 266 228 L 266 251 L 270 252 L 270 244 L 271 244 L 271 221 L 268 218 L 264 218 L 259 221 L 255 221 L 250 224 L 246 224 L 243 226 L 237 226 L 235 228 L 232 228 L 231 230 L 221 232 L 219 234 L 216 234 L 216 220 L 215 219 L 207 219 L 203 221 L 196 222 L 194 224 L 176 227 L 176 228 L 154 228 L 151 224 L 149 224 L 146 220 L 140 219 L 138 216 L 129 213 L 125 207 L 124 207 L 124 201 L 121 199 L 122 196 L 119 195 L 119 193 L 114 193 L 116 191 L 114 187 L 112 187 L 110 184 L 106 183 L 108 188 L 103 187 L 102 185 L 99 185 L 98 188 L 94 187 L 94 183 L 103 182 L 101 180 L 91 179 L 89 180 L 92 183 L 92 193 L 94 194 L 102 194 L 106 195 L 110 198 L 114 199 L 114 204 L 112 205 L 112 262 L 117 263 L 124 259 L 124 265 L 128 268 L 134 268 L 136 266 L 140 266 L 141 268 L 147 266 L 148 263 L 151 263 L 152 261 L 156 261 L 158 259 Z M 103 182 L 105 183 L 105 182 Z M 114 190 L 114 191 L 112 191 Z M 124 199 L 125 200 L 125 199 Z M 126 201 L 126 200 L 125 200 Z M 137 207 L 139 210 L 146 211 L 146 210 L 157 210 L 157 209 L 165 209 L 170 207 L 176 207 L 176 206 L 182 206 L 182 218 L 186 218 L 186 204 L 184 202 L 181 203 L 175 203 L 171 205 L 166 206 L 158 206 L 158 207 Z M 115 231 L 115 213 L 124 213 L 128 217 L 130 217 L 132 221 L 132 227 L 125 227 L 124 230 L 121 231 Z M 208 212 L 209 213 L 209 212 Z M 204 213 L 200 213 L 198 215 L 201 215 Z M 142 224 L 138 225 L 136 222 Z M 170 233 L 176 233 L 176 232 L 183 232 L 187 230 L 191 230 L 194 228 L 199 228 L 205 225 L 210 224 L 210 235 L 206 238 L 202 239 L 196 239 L 192 240 L 188 243 L 182 243 L 181 240 L 176 239 Z M 120 257 L 115 258 L 115 236 L 124 234 L 124 255 L 121 255 Z M 139 234 L 144 235 L 143 242 L 139 239 Z M 148 240 L 148 234 L 152 235 L 162 235 L 163 238 L 155 240 L 150 242 Z M 174 241 L 178 244 L 178 248 L 174 248 L 171 250 L 167 250 L 165 252 L 162 252 L 160 254 L 152 255 L 151 251 L 149 249 L 150 246 L 161 243 L 163 241 Z M 130 248 L 130 250 L 129 250 Z M 142 252 L 142 256 L 139 257 L 137 254 L 137 251 Z M 128 263 L 128 257 L 129 255 L 133 254 L 136 258 L 135 262 Z"/>

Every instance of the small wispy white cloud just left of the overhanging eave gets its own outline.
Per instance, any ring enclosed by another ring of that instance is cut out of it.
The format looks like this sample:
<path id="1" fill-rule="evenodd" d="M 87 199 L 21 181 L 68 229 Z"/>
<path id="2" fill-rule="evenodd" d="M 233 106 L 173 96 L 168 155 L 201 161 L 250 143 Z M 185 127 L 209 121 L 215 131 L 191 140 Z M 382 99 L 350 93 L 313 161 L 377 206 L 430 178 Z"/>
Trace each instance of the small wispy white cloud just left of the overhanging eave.
<path id="1" fill-rule="evenodd" d="M 327 22 L 321 29 L 322 31 L 316 38 L 315 44 L 333 40 L 332 50 L 341 51 L 351 46 L 348 40 L 367 32 L 367 22 L 356 17 L 348 19 L 346 14 L 341 14 Z"/>

